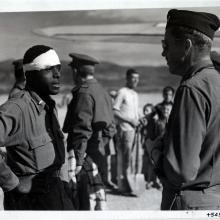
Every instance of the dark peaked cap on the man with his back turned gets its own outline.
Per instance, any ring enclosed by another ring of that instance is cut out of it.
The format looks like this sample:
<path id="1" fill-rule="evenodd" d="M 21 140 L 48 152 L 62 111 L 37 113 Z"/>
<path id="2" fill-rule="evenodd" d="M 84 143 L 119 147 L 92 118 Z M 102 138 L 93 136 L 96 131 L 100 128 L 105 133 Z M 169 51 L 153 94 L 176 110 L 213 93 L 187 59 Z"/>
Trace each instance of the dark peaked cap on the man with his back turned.
<path id="1" fill-rule="evenodd" d="M 82 65 L 92 65 L 99 64 L 99 61 L 94 58 L 90 57 L 85 54 L 79 54 L 79 53 L 70 53 L 69 56 L 72 58 L 72 62 L 70 65 L 73 66 L 82 66 Z"/>

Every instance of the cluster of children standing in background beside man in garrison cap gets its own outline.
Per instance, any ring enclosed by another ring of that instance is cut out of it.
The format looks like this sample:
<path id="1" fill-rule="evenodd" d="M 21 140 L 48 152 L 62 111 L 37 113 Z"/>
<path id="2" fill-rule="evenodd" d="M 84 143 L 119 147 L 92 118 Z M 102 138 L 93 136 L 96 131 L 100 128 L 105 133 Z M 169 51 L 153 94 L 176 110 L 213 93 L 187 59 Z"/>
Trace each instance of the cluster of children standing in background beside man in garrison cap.
<path id="1" fill-rule="evenodd" d="M 142 173 L 146 181 L 146 189 L 161 189 L 162 185 L 154 171 L 151 150 L 154 143 L 163 137 L 173 107 L 175 90 L 171 86 L 163 89 L 163 101 L 156 104 L 147 103 L 143 107 L 144 117 L 140 120 L 141 143 L 143 147 Z"/>

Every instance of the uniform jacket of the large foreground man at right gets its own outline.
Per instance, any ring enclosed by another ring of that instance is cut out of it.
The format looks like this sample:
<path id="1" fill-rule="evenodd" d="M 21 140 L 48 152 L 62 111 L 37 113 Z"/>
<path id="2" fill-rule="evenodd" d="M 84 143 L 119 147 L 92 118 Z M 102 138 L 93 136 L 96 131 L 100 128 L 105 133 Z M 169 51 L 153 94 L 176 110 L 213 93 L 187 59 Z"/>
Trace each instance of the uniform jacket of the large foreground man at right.
<path id="1" fill-rule="evenodd" d="M 220 74 L 199 63 L 174 99 L 163 152 L 163 171 L 177 189 L 220 184 Z"/>

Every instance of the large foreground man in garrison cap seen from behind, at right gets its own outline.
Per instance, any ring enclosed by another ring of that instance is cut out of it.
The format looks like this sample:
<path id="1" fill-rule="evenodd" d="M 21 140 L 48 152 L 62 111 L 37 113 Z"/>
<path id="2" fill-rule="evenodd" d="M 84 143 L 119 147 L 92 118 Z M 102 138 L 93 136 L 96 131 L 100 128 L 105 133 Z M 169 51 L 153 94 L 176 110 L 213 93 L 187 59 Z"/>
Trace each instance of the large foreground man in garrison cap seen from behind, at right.
<path id="1" fill-rule="evenodd" d="M 182 79 L 165 136 L 151 152 L 163 182 L 162 210 L 220 209 L 220 75 L 210 59 L 219 26 L 205 12 L 167 15 L 162 56 Z"/>

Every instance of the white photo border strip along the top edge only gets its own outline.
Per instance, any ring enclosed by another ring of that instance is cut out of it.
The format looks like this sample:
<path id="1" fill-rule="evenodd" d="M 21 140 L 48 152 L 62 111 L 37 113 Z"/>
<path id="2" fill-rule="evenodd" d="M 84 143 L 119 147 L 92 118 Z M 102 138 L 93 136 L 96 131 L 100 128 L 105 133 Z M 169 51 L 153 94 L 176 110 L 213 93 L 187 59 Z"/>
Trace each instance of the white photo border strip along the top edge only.
<path id="1" fill-rule="evenodd" d="M 92 4 L 91 4 L 92 2 Z M 89 3 L 89 4 L 88 4 Z M 220 6 L 219 0 L 0 0 L 0 11 L 60 11 Z"/>

